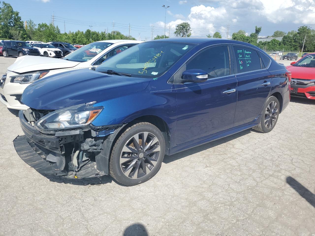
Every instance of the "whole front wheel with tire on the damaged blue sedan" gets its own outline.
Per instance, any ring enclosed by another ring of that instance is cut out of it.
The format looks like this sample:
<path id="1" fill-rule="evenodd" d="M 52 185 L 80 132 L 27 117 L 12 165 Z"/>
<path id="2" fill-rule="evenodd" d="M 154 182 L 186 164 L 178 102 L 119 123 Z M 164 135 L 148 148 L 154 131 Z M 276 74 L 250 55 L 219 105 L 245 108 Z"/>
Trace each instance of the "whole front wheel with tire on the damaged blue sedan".
<path id="1" fill-rule="evenodd" d="M 109 162 L 110 175 L 125 186 L 146 182 L 161 168 L 164 154 L 162 132 L 151 123 L 136 123 L 117 138 Z"/>

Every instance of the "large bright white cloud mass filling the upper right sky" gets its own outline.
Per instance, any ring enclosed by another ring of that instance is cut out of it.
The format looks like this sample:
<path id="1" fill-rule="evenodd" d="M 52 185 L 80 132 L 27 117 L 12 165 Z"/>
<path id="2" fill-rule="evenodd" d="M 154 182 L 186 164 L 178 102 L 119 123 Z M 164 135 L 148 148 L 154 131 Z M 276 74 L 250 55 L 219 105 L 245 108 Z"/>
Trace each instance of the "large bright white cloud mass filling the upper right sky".
<path id="1" fill-rule="evenodd" d="M 264 34 L 270 34 L 275 30 L 296 29 L 293 24 L 315 22 L 315 0 L 185 0 L 179 3 L 188 2 L 203 4 L 193 6 L 188 15 L 169 12 L 176 19 L 166 23 L 171 26 L 171 32 L 184 21 L 191 25 L 192 37 L 205 37 L 218 31 L 223 38 L 226 38 L 227 25 L 230 25 L 231 37 L 240 29 L 250 34 L 255 25 L 262 26 Z M 164 28 L 164 22 L 160 23 L 156 25 Z"/>

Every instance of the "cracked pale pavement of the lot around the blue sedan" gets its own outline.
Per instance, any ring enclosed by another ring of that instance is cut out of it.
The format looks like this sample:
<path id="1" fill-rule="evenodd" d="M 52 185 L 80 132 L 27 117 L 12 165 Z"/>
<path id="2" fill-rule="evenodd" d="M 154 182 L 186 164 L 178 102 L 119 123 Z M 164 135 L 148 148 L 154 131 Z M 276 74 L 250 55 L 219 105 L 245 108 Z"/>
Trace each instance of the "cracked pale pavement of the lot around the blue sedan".
<path id="1" fill-rule="evenodd" d="M 0 235 L 315 235 L 315 100 L 292 98 L 272 132 L 165 156 L 133 187 L 42 176 L 14 150 L 17 111 L 0 120 Z"/>

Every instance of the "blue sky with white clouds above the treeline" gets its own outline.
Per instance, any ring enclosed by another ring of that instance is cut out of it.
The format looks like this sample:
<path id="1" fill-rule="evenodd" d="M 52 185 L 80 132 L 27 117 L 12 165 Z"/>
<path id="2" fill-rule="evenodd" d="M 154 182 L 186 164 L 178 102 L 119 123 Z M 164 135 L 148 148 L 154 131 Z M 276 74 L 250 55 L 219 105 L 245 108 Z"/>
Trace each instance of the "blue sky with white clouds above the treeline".
<path id="1" fill-rule="evenodd" d="M 22 20 L 34 23 L 52 22 L 63 33 L 85 31 L 121 31 L 140 40 L 164 35 L 174 36 L 182 22 L 191 25 L 191 37 L 206 37 L 219 31 L 223 38 L 233 32 L 255 32 L 261 26 L 260 37 L 276 30 L 297 30 L 301 25 L 315 28 L 315 0 L 5 0 Z M 162 5 L 169 6 L 165 9 Z"/>

